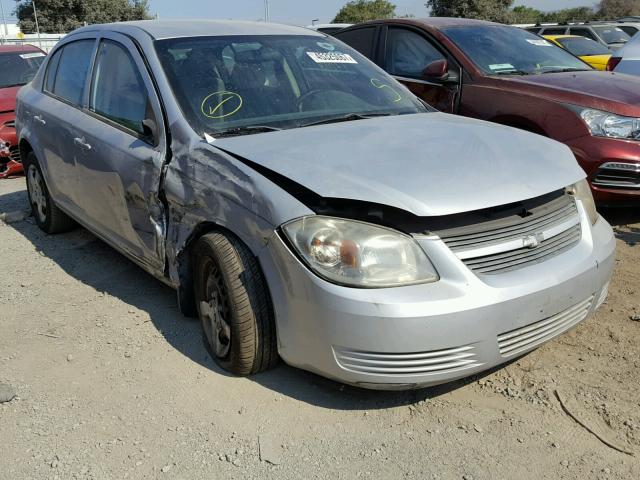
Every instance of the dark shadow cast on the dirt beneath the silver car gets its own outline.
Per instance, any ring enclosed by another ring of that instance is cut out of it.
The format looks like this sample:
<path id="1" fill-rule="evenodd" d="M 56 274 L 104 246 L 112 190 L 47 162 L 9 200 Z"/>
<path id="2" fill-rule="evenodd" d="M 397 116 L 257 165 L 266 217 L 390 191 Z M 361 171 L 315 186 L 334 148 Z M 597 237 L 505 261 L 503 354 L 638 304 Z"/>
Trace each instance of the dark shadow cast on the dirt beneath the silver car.
<path id="1" fill-rule="evenodd" d="M 24 208 L 23 191 L 0 195 L 0 212 L 7 206 Z M 199 322 L 184 317 L 177 308 L 175 292 L 83 228 L 47 235 L 29 218 L 10 227 L 29 241 L 36 251 L 53 260 L 68 275 L 149 314 L 166 341 L 194 362 L 228 375 L 211 359 L 203 344 Z M 132 317 L 133 318 L 133 317 Z M 329 409 L 374 410 L 409 405 L 460 388 L 475 380 L 453 382 L 408 392 L 375 392 L 340 384 L 281 363 L 272 371 L 250 377 L 265 388 L 297 400 Z M 240 381 L 240 380 L 238 380 Z"/>

